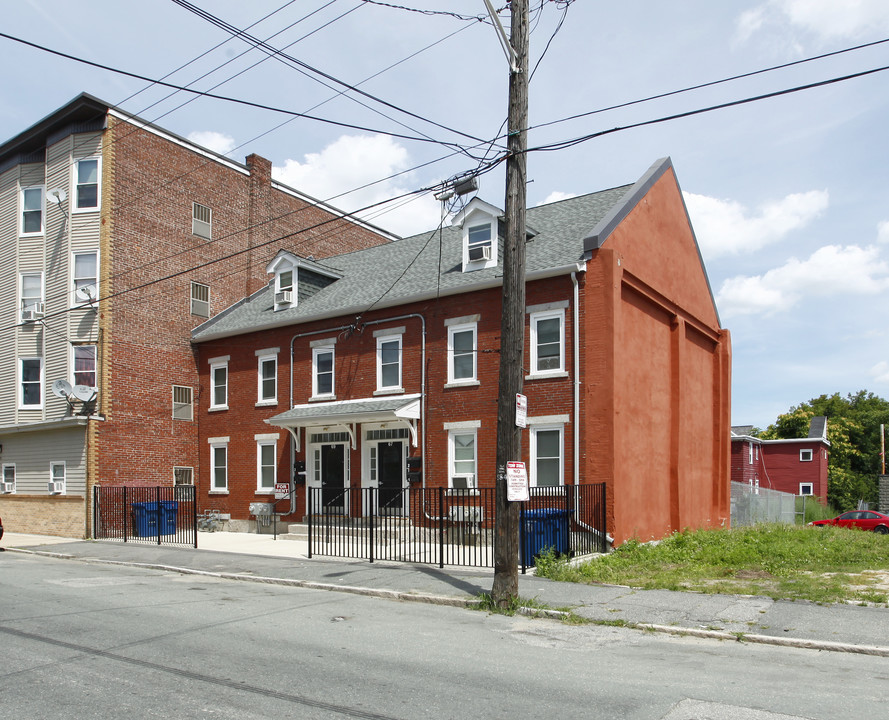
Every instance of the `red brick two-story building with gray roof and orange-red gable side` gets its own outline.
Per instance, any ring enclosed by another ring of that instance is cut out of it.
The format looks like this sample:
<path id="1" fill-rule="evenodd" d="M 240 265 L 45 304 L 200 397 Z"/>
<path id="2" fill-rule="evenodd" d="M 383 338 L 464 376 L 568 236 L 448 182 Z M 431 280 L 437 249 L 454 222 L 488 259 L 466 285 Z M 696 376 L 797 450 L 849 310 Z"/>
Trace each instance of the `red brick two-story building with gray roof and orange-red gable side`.
<path id="1" fill-rule="evenodd" d="M 672 163 L 527 223 L 530 483 L 606 483 L 617 543 L 727 525 L 730 336 Z M 492 487 L 501 230 L 476 198 L 395 243 L 266 248 L 267 286 L 193 332 L 199 502 L 248 527 L 278 482 L 297 483 L 292 522 L 301 481 L 395 496 L 413 466 L 426 487 Z"/>

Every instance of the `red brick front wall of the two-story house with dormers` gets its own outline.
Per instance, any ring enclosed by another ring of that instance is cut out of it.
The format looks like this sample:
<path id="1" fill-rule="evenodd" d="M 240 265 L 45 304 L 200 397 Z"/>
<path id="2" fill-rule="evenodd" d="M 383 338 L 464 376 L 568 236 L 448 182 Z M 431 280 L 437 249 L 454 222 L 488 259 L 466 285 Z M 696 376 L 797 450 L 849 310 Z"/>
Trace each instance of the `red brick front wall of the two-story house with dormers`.
<path id="1" fill-rule="evenodd" d="M 528 305 L 536 305 L 570 297 L 569 278 L 555 278 L 532 282 L 527 288 Z M 218 508 L 231 513 L 233 519 L 247 518 L 251 502 L 270 502 L 271 495 L 256 492 L 256 441 L 254 436 L 270 432 L 280 433 L 277 444 L 278 480 L 290 479 L 290 437 L 286 430 L 269 426 L 265 419 L 288 409 L 290 368 L 290 343 L 294 348 L 294 404 L 306 403 L 311 395 L 312 351 L 310 342 L 319 338 L 336 337 L 335 391 L 338 401 L 359 397 L 372 397 L 376 390 L 376 338 L 374 332 L 387 328 L 403 327 L 403 379 L 406 394 L 421 390 L 422 323 L 415 317 L 395 316 L 420 314 L 426 323 L 426 443 L 425 448 L 411 447 L 412 455 L 422 455 L 429 487 L 448 484 L 448 432 L 446 422 L 479 421 L 477 444 L 477 472 L 479 484 L 493 487 L 496 472 L 497 397 L 499 392 L 500 363 L 500 299 L 501 290 L 494 288 L 468 295 L 445 297 L 438 301 L 405 305 L 397 309 L 375 311 L 362 320 L 367 323 L 360 332 L 344 332 L 353 317 L 341 317 L 323 323 L 268 330 L 241 335 L 235 338 L 202 343 L 198 346 L 201 375 L 201 406 L 199 452 L 204 455 L 198 476 L 199 505 Z M 478 313 L 478 380 L 477 386 L 446 388 L 447 340 L 445 320 Z M 384 321 L 384 322 L 377 322 Z M 566 313 L 566 358 L 571 358 L 571 313 Z M 294 339 L 295 335 L 315 333 Z M 530 357 L 526 332 L 525 357 Z M 257 358 L 256 350 L 278 347 L 278 403 L 274 406 L 257 407 Z M 208 411 L 209 363 L 208 360 L 229 356 L 228 410 Z M 527 366 L 526 359 L 526 366 Z M 568 361 L 571 366 L 570 360 Z M 526 381 L 524 392 L 528 396 L 529 417 L 542 415 L 570 415 L 573 412 L 572 380 L 570 377 Z M 570 482 L 574 472 L 573 428 L 565 425 L 564 474 Z M 422 429 L 418 435 L 422 438 Z M 225 495 L 210 494 L 210 447 L 208 438 L 230 438 L 228 445 L 229 492 Z M 298 459 L 306 459 L 305 434 Z M 529 461 L 528 433 L 523 438 L 523 456 Z M 310 463 L 307 462 L 307 465 Z M 350 454 L 350 482 L 359 487 L 362 476 L 362 445 L 360 438 Z M 581 482 L 587 482 L 581 478 Z M 281 503 L 284 507 L 284 503 Z M 305 493 L 298 490 L 296 521 L 305 512 Z"/>

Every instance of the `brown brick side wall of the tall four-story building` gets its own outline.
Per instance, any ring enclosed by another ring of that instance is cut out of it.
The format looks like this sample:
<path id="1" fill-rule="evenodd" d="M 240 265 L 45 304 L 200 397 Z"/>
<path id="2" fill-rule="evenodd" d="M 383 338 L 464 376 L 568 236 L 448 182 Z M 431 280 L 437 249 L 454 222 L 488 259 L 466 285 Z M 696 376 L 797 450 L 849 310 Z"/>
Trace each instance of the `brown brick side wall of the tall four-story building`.
<path id="1" fill-rule="evenodd" d="M 266 284 L 281 248 L 320 258 L 384 238 L 273 187 L 259 156 L 248 174 L 113 117 L 106 138 L 102 294 L 114 295 L 100 318 L 106 421 L 91 467 L 100 483 L 169 484 L 174 466 L 197 474 L 205 460 L 197 422 L 172 419 L 172 385 L 200 395 L 191 282 L 210 286 L 215 315 Z M 211 240 L 192 233 L 194 202 L 212 210 Z"/>

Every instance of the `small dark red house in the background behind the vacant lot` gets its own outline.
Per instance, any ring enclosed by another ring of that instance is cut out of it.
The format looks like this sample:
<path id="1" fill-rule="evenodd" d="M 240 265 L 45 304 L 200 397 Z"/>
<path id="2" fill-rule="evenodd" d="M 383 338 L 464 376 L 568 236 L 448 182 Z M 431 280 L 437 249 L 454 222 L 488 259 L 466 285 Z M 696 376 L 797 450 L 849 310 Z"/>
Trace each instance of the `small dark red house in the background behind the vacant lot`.
<path id="1" fill-rule="evenodd" d="M 791 440 L 753 437 L 753 427 L 732 427 L 732 482 L 793 495 L 814 495 L 827 504 L 830 441 L 827 418 L 814 417 L 809 436 Z"/>

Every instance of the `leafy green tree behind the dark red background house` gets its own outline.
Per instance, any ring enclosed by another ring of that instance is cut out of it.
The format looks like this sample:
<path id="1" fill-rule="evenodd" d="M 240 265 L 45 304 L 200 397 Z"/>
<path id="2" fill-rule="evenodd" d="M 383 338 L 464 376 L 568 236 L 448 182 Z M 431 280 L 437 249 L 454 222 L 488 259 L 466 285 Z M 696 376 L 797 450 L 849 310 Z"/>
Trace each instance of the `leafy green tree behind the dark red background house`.
<path id="1" fill-rule="evenodd" d="M 830 441 L 827 497 L 839 510 L 859 500 L 875 502 L 882 470 L 880 425 L 889 425 L 889 401 L 867 390 L 821 395 L 779 415 L 759 436 L 765 440 L 806 437 L 813 417 L 827 417 Z"/>

